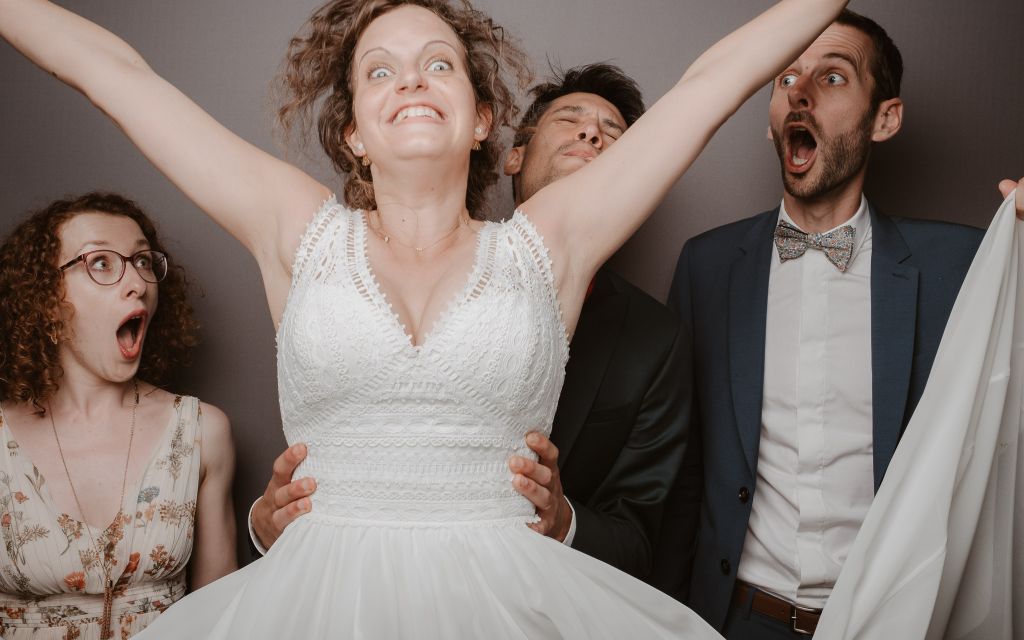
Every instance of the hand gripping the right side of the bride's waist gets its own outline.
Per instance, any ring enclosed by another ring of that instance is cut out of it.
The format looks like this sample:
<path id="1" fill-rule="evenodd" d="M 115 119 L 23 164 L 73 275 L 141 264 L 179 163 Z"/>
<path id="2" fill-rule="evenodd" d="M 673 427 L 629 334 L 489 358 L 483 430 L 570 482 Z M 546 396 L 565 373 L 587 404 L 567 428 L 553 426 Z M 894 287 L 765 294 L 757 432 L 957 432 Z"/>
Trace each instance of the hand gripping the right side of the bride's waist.
<path id="1" fill-rule="evenodd" d="M 515 473 L 512 486 L 537 506 L 540 522 L 527 524 L 539 534 L 565 542 L 572 524 L 572 508 L 562 493 L 558 475 L 558 447 L 540 433 L 526 434 L 526 446 L 537 452 L 540 462 L 513 456 L 509 468 Z"/>

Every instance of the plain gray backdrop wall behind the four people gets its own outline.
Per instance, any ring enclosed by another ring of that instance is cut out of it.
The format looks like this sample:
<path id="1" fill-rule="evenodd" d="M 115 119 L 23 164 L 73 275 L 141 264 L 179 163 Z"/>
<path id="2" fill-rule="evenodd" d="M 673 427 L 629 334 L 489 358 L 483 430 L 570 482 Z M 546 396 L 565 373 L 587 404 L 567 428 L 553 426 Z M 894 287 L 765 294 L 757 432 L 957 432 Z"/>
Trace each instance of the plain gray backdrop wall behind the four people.
<path id="1" fill-rule="evenodd" d="M 131 43 L 165 78 L 232 131 L 279 153 L 269 135 L 268 79 L 288 39 L 319 0 L 61 0 Z M 770 0 L 478 0 L 518 34 L 543 68 L 622 66 L 648 104 L 708 46 Z M 854 0 L 900 46 L 905 124 L 874 151 L 868 196 L 893 215 L 987 226 L 999 179 L 1024 175 L 1024 3 L 1020 0 Z M 255 261 L 161 176 L 88 101 L 0 44 L 0 232 L 30 208 L 93 188 L 148 207 L 202 288 L 196 366 L 179 390 L 220 407 L 238 447 L 240 541 L 250 503 L 285 447 L 273 328 Z M 778 161 L 765 139 L 768 89 L 712 140 L 610 266 L 664 300 L 683 242 L 774 207 Z M 709 96 L 714 99 L 714 96 Z M 307 170 L 340 189 L 322 166 Z M 511 209 L 509 185 L 495 217 Z M 244 550 L 240 548 L 240 552 Z M 240 555 L 245 555 L 240 554 Z"/>

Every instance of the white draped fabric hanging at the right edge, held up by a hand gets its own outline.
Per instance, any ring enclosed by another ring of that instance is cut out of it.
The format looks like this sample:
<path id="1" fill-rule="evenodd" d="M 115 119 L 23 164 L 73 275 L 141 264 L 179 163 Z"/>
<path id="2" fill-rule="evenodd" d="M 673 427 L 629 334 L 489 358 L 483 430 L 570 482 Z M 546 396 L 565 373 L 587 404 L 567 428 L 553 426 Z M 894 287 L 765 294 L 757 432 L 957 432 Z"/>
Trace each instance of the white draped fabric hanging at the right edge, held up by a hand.
<path id="1" fill-rule="evenodd" d="M 1024 223 L 1014 198 L 964 282 L 818 638 L 1024 638 Z"/>

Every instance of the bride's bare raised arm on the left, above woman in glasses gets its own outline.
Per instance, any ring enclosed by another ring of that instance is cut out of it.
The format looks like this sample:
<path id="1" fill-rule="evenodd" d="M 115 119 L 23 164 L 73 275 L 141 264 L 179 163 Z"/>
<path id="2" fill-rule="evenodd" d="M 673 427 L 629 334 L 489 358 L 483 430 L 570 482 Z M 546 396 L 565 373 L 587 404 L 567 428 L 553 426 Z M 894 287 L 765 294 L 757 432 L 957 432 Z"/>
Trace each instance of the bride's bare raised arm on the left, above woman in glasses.
<path id="1" fill-rule="evenodd" d="M 256 256 L 264 280 L 287 280 L 292 245 L 330 197 L 329 188 L 228 131 L 154 73 L 126 42 L 71 11 L 46 0 L 0 0 L 0 36 L 106 114 L 150 162 Z M 284 294 L 287 284 L 281 308 Z M 279 305 L 270 303 L 278 316 Z"/>

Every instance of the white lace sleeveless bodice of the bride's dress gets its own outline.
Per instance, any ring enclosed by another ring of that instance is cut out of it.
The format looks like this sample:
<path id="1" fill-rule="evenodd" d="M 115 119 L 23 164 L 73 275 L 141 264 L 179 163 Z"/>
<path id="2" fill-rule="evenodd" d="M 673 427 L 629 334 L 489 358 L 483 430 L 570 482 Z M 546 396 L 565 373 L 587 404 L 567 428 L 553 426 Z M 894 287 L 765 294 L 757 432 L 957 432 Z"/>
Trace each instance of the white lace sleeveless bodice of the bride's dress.
<path id="1" fill-rule="evenodd" d="M 316 478 L 308 517 L 398 526 L 536 519 L 508 460 L 536 460 L 568 342 L 543 239 L 520 213 L 479 230 L 476 260 L 422 345 L 379 292 L 361 212 L 332 198 L 296 253 L 278 334 L 289 444 Z"/>

